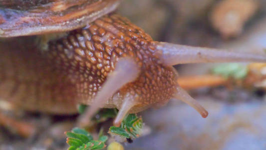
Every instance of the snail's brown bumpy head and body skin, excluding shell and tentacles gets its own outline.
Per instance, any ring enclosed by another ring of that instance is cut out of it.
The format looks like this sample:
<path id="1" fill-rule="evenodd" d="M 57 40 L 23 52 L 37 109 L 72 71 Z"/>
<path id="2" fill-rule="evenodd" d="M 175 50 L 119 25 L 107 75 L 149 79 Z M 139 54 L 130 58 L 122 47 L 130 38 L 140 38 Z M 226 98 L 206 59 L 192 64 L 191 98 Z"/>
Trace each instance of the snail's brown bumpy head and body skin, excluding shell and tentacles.
<path id="1" fill-rule="evenodd" d="M 121 57 L 134 58 L 141 72 L 105 107 L 120 108 L 130 93 L 137 103 L 129 113 L 138 112 L 165 104 L 177 92 L 177 73 L 161 64 L 151 37 L 120 15 L 102 16 L 46 48 L 21 38 L 14 39 L 23 41 L 19 45 L 1 43 L 0 97 L 28 110 L 71 113 L 77 103 L 90 104 Z"/>

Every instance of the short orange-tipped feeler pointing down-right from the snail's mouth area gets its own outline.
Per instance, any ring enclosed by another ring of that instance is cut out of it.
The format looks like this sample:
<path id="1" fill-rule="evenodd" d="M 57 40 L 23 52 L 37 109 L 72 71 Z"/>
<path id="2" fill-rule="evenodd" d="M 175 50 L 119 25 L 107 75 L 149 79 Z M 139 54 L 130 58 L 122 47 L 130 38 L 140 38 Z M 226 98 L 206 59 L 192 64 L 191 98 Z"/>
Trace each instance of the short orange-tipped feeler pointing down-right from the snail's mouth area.
<path id="1" fill-rule="evenodd" d="M 208 111 L 198 101 L 192 98 L 183 88 L 178 86 L 177 91 L 178 93 L 174 95 L 175 98 L 180 99 L 192 106 L 202 115 L 202 117 L 206 118 L 208 116 Z"/>

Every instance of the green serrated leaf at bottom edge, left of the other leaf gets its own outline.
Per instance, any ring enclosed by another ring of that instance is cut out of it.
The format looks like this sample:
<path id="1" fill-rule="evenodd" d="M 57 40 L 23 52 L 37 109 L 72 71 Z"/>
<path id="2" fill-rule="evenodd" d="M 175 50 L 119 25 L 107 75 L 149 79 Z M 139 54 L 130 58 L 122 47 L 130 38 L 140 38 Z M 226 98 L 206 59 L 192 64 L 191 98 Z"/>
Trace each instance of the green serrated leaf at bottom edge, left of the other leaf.
<path id="1" fill-rule="evenodd" d="M 107 136 L 99 134 L 98 140 L 93 140 L 89 132 L 84 129 L 75 127 L 71 132 L 65 132 L 67 138 L 66 143 L 70 145 L 68 150 L 93 150 L 104 148 Z"/>

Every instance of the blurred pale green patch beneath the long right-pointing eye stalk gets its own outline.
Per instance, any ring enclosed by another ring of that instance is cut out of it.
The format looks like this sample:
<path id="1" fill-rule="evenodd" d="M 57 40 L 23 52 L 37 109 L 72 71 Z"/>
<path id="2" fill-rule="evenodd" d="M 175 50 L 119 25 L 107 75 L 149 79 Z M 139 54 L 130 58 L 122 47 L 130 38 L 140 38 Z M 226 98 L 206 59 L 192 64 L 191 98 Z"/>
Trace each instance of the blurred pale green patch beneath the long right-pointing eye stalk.
<path id="1" fill-rule="evenodd" d="M 212 73 L 223 75 L 226 78 L 243 79 L 248 74 L 248 67 L 240 63 L 221 64 L 214 67 Z"/>

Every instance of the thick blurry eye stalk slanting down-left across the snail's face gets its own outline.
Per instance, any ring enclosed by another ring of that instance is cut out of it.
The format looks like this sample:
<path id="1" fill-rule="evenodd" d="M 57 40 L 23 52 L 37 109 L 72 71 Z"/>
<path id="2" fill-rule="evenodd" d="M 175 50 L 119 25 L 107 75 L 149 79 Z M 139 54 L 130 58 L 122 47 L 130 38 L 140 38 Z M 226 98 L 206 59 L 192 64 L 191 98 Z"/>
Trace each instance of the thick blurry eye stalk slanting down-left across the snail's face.
<path id="1" fill-rule="evenodd" d="M 91 106 L 85 111 L 79 120 L 80 126 L 89 124 L 90 118 L 103 107 L 109 97 L 117 92 L 125 84 L 134 81 L 139 75 L 140 69 L 138 64 L 129 57 L 120 58 L 116 63 L 115 69 L 107 77 L 100 91 L 97 92 L 92 100 Z"/>

